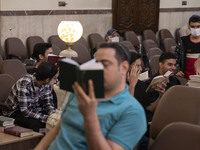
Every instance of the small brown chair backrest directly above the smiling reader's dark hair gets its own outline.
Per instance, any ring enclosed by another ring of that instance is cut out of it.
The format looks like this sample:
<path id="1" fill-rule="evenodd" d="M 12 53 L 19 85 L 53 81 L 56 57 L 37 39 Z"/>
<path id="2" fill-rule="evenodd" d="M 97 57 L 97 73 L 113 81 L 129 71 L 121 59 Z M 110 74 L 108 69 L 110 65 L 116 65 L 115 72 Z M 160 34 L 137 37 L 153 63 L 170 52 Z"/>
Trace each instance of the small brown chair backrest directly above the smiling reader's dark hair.
<path id="1" fill-rule="evenodd" d="M 163 45 L 166 52 L 175 53 L 176 41 L 174 39 L 165 38 Z"/>

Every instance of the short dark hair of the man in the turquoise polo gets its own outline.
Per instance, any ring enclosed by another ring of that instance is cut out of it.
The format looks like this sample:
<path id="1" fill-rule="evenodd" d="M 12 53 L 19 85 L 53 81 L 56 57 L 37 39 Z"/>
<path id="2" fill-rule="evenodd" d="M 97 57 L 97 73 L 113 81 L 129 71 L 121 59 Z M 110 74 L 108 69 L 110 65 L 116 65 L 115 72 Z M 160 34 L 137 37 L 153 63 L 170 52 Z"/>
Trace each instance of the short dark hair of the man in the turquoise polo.
<path id="1" fill-rule="evenodd" d="M 102 43 L 99 48 L 113 48 L 115 50 L 115 57 L 120 64 L 123 61 L 130 63 L 130 52 L 128 48 L 120 43 Z"/>

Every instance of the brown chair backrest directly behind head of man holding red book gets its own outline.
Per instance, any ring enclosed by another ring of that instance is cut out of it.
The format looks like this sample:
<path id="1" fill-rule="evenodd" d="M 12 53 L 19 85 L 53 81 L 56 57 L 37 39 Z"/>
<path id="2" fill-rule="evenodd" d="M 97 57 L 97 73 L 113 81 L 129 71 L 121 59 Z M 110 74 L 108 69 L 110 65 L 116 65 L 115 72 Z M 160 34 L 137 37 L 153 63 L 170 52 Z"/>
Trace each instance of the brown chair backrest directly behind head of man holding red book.
<path id="1" fill-rule="evenodd" d="M 37 43 L 44 43 L 43 38 L 40 36 L 29 36 L 26 39 L 26 46 L 27 46 L 29 57 L 31 57 L 31 55 L 33 53 L 33 48 L 34 48 L 35 44 L 37 44 Z"/>

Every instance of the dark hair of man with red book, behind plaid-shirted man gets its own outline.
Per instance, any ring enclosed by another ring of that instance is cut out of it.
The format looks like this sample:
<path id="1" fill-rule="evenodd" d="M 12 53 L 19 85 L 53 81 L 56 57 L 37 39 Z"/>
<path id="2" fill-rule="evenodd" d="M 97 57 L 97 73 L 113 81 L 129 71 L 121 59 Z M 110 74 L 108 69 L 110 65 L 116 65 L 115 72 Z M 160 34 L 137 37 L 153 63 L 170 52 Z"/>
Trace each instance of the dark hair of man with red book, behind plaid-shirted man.
<path id="1" fill-rule="evenodd" d="M 39 55 L 41 54 L 42 56 L 44 56 L 46 50 L 51 48 L 51 47 L 52 47 L 52 44 L 50 44 L 50 43 L 37 43 L 37 44 L 35 44 L 35 46 L 33 48 L 32 58 L 36 59 L 37 61 L 40 61 Z"/>

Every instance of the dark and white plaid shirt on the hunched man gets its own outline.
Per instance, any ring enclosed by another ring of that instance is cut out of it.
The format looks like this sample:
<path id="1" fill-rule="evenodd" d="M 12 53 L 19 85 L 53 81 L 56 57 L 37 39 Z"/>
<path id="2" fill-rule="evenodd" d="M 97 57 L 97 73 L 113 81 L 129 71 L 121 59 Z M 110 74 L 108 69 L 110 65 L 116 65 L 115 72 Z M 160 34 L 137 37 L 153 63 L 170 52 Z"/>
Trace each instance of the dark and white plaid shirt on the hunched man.
<path id="1" fill-rule="evenodd" d="M 25 75 L 13 85 L 5 103 L 11 106 L 12 110 L 4 110 L 4 115 L 10 116 L 16 110 L 20 110 L 25 117 L 35 118 L 44 123 L 49 114 L 55 110 L 51 85 L 38 86 L 35 76 L 30 74 Z"/>

